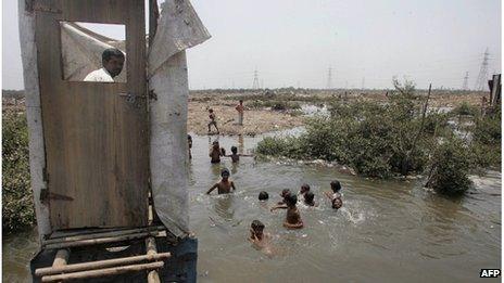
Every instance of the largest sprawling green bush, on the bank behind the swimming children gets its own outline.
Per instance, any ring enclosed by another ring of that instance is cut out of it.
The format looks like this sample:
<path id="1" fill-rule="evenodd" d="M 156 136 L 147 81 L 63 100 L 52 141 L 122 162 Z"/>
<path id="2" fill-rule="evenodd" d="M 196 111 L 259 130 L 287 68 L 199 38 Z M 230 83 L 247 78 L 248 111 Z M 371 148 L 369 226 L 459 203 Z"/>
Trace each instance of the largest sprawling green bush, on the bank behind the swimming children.
<path id="1" fill-rule="evenodd" d="M 330 117 L 306 121 L 305 134 L 289 140 L 265 139 L 257 153 L 336 160 L 376 178 L 419 172 L 427 162 L 427 139 L 418 133 L 417 104 L 404 98 L 387 105 L 335 103 L 329 108 Z"/>

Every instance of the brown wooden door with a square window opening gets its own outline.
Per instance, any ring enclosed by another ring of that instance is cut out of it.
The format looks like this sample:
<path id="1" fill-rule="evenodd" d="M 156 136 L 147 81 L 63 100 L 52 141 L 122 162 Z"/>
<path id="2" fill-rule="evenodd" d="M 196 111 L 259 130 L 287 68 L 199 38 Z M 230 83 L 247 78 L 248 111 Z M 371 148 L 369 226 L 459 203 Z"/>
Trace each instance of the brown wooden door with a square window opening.
<path id="1" fill-rule="evenodd" d="M 143 1 L 36 0 L 34 9 L 52 230 L 146 226 Z M 125 25 L 127 82 L 63 80 L 61 21 Z"/>

